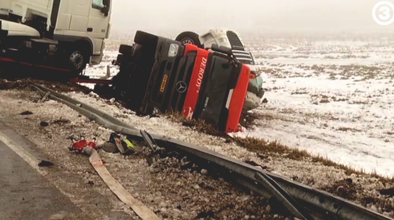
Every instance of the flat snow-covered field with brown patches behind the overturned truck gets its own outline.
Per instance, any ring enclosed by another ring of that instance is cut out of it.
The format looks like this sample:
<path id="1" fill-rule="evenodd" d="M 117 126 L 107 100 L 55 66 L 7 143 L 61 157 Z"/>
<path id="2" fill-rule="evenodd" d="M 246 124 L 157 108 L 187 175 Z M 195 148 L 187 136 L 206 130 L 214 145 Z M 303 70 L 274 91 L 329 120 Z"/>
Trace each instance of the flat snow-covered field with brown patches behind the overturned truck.
<path id="1" fill-rule="evenodd" d="M 394 176 L 394 46 L 314 42 L 253 46 L 268 103 L 239 136 L 278 140 L 366 172 Z M 116 51 L 87 75 L 104 76 Z M 117 73 L 111 67 L 111 75 Z M 91 87 L 91 86 L 90 86 Z"/>

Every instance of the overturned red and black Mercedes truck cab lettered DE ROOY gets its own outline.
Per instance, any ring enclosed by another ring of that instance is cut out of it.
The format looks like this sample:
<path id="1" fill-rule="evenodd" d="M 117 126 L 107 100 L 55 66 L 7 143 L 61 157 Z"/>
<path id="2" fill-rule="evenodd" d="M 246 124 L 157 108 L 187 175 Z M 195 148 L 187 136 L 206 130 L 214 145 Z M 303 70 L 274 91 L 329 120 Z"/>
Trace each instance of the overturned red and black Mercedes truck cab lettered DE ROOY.
<path id="1" fill-rule="evenodd" d="M 112 88 L 142 114 L 181 112 L 221 132 L 236 132 L 250 69 L 231 49 L 211 50 L 137 31 L 135 44 L 121 45 Z"/>

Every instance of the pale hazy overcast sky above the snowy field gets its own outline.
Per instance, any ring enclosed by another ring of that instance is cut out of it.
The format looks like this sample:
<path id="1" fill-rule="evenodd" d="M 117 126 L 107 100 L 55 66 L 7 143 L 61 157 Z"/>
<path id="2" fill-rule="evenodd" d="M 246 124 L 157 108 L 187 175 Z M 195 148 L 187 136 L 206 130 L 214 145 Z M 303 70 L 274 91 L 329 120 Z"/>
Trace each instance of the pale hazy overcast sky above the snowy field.
<path id="1" fill-rule="evenodd" d="M 392 31 L 379 26 L 379 0 L 113 0 L 114 30 Z M 394 0 L 392 0 L 394 3 Z"/>

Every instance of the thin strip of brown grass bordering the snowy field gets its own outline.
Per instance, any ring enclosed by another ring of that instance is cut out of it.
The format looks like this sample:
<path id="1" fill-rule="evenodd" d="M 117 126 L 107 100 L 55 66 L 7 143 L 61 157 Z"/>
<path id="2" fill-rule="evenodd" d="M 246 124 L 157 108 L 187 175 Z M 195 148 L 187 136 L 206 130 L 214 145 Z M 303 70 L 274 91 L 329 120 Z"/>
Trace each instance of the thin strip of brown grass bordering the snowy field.
<path id="1" fill-rule="evenodd" d="M 80 91 L 84 94 L 88 94 L 91 90 L 82 87 L 76 84 L 72 83 L 59 83 L 59 82 L 47 82 L 47 81 L 42 81 L 42 80 L 34 80 L 36 83 L 42 83 L 45 84 L 45 86 L 48 86 L 49 88 L 53 88 L 55 90 L 58 90 L 60 92 L 69 92 L 69 91 Z M 30 85 L 27 83 L 25 80 L 16 80 L 16 81 L 6 81 L 0 79 L 0 90 L 1 89 L 23 89 L 23 88 L 29 88 Z M 103 99 L 108 99 L 108 97 L 102 97 Z M 122 103 L 121 103 L 122 104 Z M 123 103 L 123 106 L 126 107 Z M 394 182 L 394 176 L 389 177 L 389 176 L 381 176 L 378 175 L 377 173 L 366 173 L 363 171 L 358 171 L 355 170 L 354 168 L 350 166 L 346 166 L 343 164 L 339 164 L 337 162 L 331 161 L 328 158 L 321 157 L 321 156 L 315 156 L 311 155 L 305 150 L 299 150 L 299 149 L 294 149 L 288 146 L 285 146 L 278 141 L 268 141 L 265 139 L 260 139 L 260 138 L 253 138 L 253 137 L 246 137 L 246 138 L 240 138 L 240 137 L 235 137 L 232 138 L 224 133 L 221 133 L 217 131 L 215 128 L 213 128 L 211 125 L 205 123 L 203 120 L 194 120 L 194 119 L 187 119 L 185 117 L 182 117 L 180 113 L 174 112 L 174 113 L 167 113 L 164 114 L 164 117 L 168 117 L 172 119 L 175 122 L 181 123 L 183 126 L 187 127 L 192 127 L 198 132 L 203 132 L 205 134 L 213 135 L 213 136 L 219 136 L 224 139 L 226 139 L 226 142 L 234 142 L 240 147 L 244 147 L 247 150 L 251 152 L 255 152 L 258 154 L 263 154 L 266 156 L 278 156 L 280 155 L 281 157 L 286 157 L 291 160 L 295 161 L 302 161 L 302 160 L 309 160 L 312 162 L 318 162 L 326 166 L 331 166 L 331 167 L 336 167 L 341 170 L 344 170 L 347 175 L 350 174 L 357 174 L 357 175 L 367 175 L 371 177 L 375 177 L 379 179 L 382 183 L 393 183 Z M 256 116 L 246 114 L 243 115 L 243 118 L 241 119 L 242 125 L 245 127 L 248 127 L 253 124 L 253 121 L 256 119 Z"/>

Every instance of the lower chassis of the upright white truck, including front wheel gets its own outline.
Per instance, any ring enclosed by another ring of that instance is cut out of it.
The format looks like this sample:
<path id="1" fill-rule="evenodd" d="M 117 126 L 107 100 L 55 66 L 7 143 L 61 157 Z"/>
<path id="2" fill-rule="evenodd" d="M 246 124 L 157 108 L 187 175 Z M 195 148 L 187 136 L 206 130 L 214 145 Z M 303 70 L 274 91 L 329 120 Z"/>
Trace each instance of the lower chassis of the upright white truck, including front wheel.
<path id="1" fill-rule="evenodd" d="M 67 60 L 66 51 L 66 44 L 41 38 L 36 29 L 0 20 L 0 62 L 3 63 L 2 65 L 5 65 L 5 62 L 12 62 L 16 66 L 42 67 L 76 76 L 84 69 L 85 61 L 78 53 L 71 54 Z"/>

